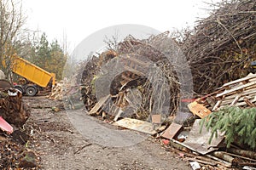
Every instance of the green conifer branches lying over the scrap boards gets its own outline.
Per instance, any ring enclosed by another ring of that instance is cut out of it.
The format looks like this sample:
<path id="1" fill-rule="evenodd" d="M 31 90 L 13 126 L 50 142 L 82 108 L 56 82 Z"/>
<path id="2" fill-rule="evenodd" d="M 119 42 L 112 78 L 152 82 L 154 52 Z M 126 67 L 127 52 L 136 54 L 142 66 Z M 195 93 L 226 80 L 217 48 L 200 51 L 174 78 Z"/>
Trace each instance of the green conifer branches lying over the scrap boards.
<path id="1" fill-rule="evenodd" d="M 256 148 L 256 108 L 227 107 L 203 118 L 201 127 L 204 125 L 212 131 L 209 142 L 220 131 L 225 133 L 227 147 L 236 141 L 247 144 L 253 150 Z"/>

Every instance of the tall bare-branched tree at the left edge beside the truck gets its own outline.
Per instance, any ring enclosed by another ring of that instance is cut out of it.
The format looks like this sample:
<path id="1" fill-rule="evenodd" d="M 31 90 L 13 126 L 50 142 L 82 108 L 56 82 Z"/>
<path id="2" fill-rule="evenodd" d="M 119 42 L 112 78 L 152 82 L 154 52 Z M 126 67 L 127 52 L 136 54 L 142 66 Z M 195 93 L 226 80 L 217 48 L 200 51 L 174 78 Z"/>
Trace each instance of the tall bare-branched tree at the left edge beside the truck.
<path id="1" fill-rule="evenodd" d="M 7 77 L 11 73 L 10 56 L 15 54 L 15 43 L 25 20 L 21 1 L 0 0 L 0 69 Z"/>

